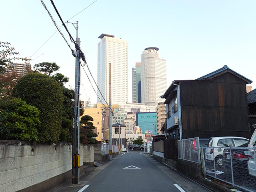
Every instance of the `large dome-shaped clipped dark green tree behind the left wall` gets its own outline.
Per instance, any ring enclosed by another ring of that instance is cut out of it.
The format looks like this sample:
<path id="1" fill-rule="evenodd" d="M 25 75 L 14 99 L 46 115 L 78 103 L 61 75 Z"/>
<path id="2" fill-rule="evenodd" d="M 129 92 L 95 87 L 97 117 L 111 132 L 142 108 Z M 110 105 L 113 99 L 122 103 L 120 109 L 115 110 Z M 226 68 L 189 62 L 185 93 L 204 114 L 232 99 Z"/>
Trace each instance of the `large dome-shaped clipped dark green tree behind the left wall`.
<path id="1" fill-rule="evenodd" d="M 63 94 L 61 86 L 53 78 L 39 73 L 22 77 L 12 91 L 27 104 L 40 110 L 40 142 L 58 142 L 62 122 Z"/>

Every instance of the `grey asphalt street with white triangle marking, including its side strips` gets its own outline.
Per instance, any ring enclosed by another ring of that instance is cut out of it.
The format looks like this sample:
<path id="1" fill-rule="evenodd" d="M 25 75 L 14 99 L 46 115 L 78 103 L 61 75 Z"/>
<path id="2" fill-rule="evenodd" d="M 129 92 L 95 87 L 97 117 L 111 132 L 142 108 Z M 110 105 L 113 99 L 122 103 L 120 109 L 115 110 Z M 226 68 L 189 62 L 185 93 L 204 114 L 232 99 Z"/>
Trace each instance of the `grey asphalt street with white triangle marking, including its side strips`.
<path id="1" fill-rule="evenodd" d="M 212 192 L 143 151 L 121 153 L 54 192 Z"/>

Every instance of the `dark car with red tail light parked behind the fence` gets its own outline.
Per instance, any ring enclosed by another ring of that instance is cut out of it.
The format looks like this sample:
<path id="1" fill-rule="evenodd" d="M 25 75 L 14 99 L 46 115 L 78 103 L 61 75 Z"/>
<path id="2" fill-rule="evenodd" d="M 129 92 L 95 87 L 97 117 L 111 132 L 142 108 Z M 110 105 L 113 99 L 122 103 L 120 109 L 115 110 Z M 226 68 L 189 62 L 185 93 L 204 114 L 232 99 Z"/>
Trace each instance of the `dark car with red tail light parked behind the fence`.
<path id="1" fill-rule="evenodd" d="M 230 154 L 230 148 L 224 148 L 223 150 L 223 166 L 226 170 L 231 171 L 231 158 L 232 158 L 232 167 L 234 174 L 243 174 L 248 173 L 248 165 L 247 162 L 249 160 L 249 156 L 247 155 L 248 142 L 244 140 L 234 140 L 235 142 L 240 142 L 240 146 L 237 143 L 236 147 L 232 148 Z"/>

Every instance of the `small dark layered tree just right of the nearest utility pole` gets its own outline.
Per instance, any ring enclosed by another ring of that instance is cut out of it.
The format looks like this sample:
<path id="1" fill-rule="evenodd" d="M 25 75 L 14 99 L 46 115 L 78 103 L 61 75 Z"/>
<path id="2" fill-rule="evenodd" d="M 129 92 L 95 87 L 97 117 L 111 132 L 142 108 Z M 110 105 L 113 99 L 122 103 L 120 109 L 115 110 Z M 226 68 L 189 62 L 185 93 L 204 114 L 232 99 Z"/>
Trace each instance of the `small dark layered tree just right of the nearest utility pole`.
<path id="1" fill-rule="evenodd" d="M 98 135 L 93 132 L 95 127 L 93 126 L 93 118 L 89 115 L 81 117 L 80 120 L 80 142 L 84 144 L 96 143 L 97 140 L 92 137 L 97 137 Z"/>

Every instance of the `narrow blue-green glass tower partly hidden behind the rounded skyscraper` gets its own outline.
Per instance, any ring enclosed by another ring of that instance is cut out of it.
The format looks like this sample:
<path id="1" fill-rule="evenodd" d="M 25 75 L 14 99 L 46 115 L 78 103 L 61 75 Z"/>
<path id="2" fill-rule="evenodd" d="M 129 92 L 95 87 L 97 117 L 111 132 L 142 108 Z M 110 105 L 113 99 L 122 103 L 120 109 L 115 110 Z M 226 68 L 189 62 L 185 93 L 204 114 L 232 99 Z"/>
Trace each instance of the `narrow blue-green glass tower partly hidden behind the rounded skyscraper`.
<path id="1" fill-rule="evenodd" d="M 136 63 L 132 68 L 132 102 L 141 103 L 141 66 Z"/>

